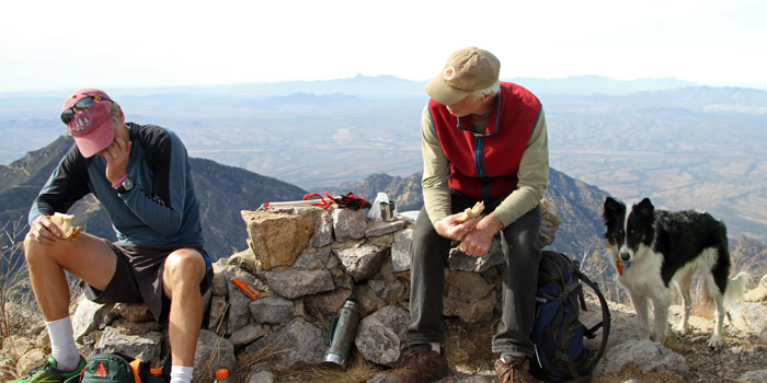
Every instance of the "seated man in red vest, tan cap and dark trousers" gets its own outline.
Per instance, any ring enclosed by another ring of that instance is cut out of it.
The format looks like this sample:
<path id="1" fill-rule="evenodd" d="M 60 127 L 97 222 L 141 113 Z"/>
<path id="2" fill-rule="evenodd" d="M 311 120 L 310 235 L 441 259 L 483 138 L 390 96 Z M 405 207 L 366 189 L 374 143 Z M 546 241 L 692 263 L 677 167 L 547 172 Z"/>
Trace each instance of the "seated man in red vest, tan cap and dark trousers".
<path id="1" fill-rule="evenodd" d="M 423 197 L 411 247 L 411 326 L 408 349 L 386 382 L 415 383 L 448 373 L 442 344 L 444 260 L 450 242 L 481 257 L 502 233 L 501 323 L 492 350 L 500 382 L 530 382 L 529 339 L 540 251 L 540 200 L 549 179 L 543 109 L 526 89 L 499 81 L 501 63 L 469 47 L 447 60 L 426 84 L 432 97 L 421 119 Z M 465 209 L 483 201 L 483 217 L 461 223 Z"/>

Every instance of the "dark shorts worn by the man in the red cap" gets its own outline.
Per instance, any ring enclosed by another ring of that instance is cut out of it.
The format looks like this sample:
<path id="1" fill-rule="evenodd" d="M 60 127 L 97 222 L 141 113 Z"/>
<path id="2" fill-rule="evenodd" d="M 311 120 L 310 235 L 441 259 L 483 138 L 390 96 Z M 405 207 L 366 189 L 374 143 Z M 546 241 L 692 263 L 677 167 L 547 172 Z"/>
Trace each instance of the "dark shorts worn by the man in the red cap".
<path id="1" fill-rule="evenodd" d="M 168 327 L 170 299 L 162 290 L 162 271 L 168 255 L 180 248 L 192 248 L 205 258 L 205 278 L 199 292 L 213 286 L 213 265 L 202 245 L 141 246 L 121 245 L 104 240 L 117 255 L 115 275 L 102 291 L 81 282 L 85 298 L 96 303 L 146 303 L 157 323 Z"/>

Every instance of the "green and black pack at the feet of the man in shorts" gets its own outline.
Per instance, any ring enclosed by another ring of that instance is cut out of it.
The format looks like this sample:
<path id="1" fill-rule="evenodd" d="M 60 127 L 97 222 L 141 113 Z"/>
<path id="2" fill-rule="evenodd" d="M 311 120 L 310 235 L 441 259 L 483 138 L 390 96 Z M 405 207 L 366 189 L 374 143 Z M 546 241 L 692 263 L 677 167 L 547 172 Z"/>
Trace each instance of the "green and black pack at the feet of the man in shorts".
<path id="1" fill-rule="evenodd" d="M 85 363 L 80 375 L 65 383 L 168 383 L 170 381 L 170 358 L 162 368 L 162 374 L 150 373 L 149 363 L 123 353 L 96 353 Z"/>

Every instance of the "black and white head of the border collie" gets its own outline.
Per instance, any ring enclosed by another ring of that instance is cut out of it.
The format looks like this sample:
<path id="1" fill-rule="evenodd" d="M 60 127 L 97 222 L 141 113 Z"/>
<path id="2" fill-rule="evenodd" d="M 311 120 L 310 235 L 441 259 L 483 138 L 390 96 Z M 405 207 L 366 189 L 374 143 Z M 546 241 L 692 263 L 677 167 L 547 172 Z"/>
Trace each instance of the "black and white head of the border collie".
<path id="1" fill-rule="evenodd" d="M 602 219 L 605 222 L 605 239 L 613 255 L 621 262 L 631 262 L 652 246 L 655 241 L 655 207 L 644 198 L 627 211 L 626 204 L 613 198 L 605 199 Z"/>

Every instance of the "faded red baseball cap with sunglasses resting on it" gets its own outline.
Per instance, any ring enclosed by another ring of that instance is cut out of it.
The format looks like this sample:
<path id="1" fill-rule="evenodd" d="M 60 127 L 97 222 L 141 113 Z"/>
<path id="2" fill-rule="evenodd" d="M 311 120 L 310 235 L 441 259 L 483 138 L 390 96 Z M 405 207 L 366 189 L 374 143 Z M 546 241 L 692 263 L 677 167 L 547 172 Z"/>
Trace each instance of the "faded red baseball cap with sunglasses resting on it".
<path id="1" fill-rule="evenodd" d="M 82 111 L 72 107 L 78 101 L 96 96 L 106 100 L 93 100 L 93 106 Z M 68 123 L 67 130 L 75 138 L 80 153 L 89 158 L 108 147 L 114 140 L 114 128 L 110 118 L 112 98 L 104 91 L 93 88 L 83 88 L 64 101 L 62 112 L 72 107 L 75 117 Z"/>

